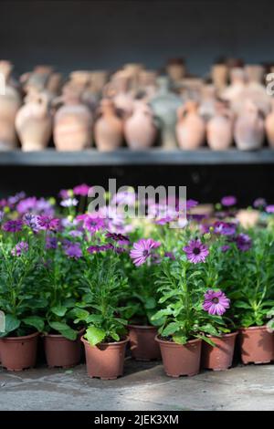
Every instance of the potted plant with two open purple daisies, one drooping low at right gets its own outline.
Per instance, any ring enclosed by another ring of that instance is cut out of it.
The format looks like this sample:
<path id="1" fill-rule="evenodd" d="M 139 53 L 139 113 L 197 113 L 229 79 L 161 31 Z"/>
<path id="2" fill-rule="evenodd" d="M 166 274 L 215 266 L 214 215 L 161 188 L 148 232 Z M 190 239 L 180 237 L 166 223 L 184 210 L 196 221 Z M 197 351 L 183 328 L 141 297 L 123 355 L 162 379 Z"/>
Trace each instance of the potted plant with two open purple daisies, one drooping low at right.
<path id="1" fill-rule="evenodd" d="M 185 241 L 189 232 L 184 235 Z M 217 336 L 219 331 L 226 331 L 220 315 L 209 314 L 205 309 L 203 263 L 208 255 L 208 246 L 194 238 L 174 260 L 165 259 L 159 269 L 157 284 L 160 303 L 164 303 L 165 308 L 154 314 L 153 319 L 163 319 L 156 340 L 160 344 L 164 370 L 172 377 L 198 373 L 202 340 L 214 345 L 207 335 Z M 229 300 L 225 295 L 222 298 L 217 308 L 225 312 Z"/>

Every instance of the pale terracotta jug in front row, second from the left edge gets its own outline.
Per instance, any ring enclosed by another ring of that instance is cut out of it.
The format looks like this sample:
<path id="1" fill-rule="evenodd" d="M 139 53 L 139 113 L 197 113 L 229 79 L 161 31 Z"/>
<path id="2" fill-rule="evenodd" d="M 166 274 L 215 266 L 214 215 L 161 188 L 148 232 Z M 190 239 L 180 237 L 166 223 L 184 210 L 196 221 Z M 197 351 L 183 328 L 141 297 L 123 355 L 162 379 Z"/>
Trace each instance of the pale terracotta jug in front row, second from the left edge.
<path id="1" fill-rule="evenodd" d="M 37 92 L 26 97 L 26 104 L 16 115 L 16 131 L 23 151 L 42 151 L 47 147 L 52 131 L 52 119 L 46 93 Z"/>

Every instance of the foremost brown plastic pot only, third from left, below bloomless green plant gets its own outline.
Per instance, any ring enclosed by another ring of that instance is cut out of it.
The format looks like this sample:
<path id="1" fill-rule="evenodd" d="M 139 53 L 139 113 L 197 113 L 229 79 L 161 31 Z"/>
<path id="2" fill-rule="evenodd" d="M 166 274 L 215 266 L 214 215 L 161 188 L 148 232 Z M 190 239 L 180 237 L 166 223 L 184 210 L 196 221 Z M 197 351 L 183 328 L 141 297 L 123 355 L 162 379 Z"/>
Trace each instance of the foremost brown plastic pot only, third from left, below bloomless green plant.
<path id="1" fill-rule="evenodd" d="M 123 374 L 124 354 L 129 339 L 118 342 L 101 342 L 90 346 L 89 341 L 81 337 L 86 351 L 89 377 L 101 380 L 115 380 Z"/>

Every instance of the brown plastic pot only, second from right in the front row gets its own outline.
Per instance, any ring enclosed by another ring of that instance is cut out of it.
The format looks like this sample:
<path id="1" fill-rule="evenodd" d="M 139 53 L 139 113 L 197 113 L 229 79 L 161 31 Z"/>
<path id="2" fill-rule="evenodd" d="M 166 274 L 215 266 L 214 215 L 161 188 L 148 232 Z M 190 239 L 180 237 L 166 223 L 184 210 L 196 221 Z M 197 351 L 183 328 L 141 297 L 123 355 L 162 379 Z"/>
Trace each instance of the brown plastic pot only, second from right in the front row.
<path id="1" fill-rule="evenodd" d="M 233 361 L 237 332 L 224 334 L 221 337 L 208 336 L 215 347 L 203 341 L 202 367 L 207 370 L 224 371 L 230 368 Z"/>

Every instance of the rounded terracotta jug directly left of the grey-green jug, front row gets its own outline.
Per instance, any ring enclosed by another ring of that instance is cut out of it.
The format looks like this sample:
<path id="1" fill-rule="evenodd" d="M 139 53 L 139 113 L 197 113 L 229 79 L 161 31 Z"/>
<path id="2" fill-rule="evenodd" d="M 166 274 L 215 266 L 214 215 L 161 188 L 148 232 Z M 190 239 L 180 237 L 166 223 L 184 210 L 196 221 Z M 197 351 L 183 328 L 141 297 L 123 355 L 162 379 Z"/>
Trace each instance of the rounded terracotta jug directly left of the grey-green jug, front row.
<path id="1" fill-rule="evenodd" d="M 153 146 L 157 129 L 153 123 L 153 112 L 142 99 L 134 102 L 134 111 L 125 122 L 124 134 L 132 149 L 142 150 Z"/>

